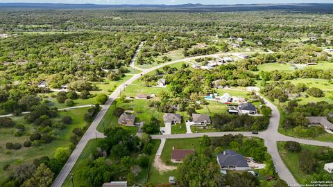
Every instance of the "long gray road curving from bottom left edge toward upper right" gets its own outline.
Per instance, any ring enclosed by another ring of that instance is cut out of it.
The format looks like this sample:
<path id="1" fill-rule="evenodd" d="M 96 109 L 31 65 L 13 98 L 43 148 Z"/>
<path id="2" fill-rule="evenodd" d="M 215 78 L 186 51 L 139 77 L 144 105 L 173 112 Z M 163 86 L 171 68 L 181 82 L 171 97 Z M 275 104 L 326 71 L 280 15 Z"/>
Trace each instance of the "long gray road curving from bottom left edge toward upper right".
<path id="1" fill-rule="evenodd" d="M 138 47 L 137 51 L 135 52 L 135 55 L 133 56 L 133 59 L 136 59 L 140 48 L 141 48 L 141 46 Z M 262 53 L 266 53 L 266 52 L 262 52 Z M 182 61 L 185 61 L 185 60 L 194 60 L 194 59 L 200 58 L 200 57 L 214 57 L 216 55 L 239 55 L 239 54 L 241 54 L 241 53 L 216 53 L 216 54 L 212 54 L 212 55 L 200 55 L 200 56 L 196 56 L 196 57 L 187 57 L 187 58 L 180 59 L 180 60 L 173 60 L 171 62 L 167 62 L 167 63 L 164 63 L 164 64 L 160 64 L 158 66 L 154 66 L 150 69 L 140 69 L 140 70 L 142 70 L 142 73 L 133 75 L 132 78 L 130 78 L 129 80 L 127 80 L 123 84 L 119 85 L 119 87 L 117 87 L 117 89 L 109 96 L 107 102 L 104 104 L 104 106 L 102 107 L 99 114 L 97 114 L 96 118 L 94 119 L 94 121 L 92 121 L 92 124 L 89 126 L 89 128 L 87 129 L 87 131 L 83 135 L 82 139 L 80 139 L 80 142 L 78 143 L 78 145 L 76 145 L 76 148 L 71 153 L 71 156 L 69 157 L 69 159 L 65 163 L 65 166 L 60 171 L 56 180 L 53 181 L 52 187 L 62 186 L 66 177 L 69 175 L 69 172 L 71 172 L 71 169 L 74 167 L 74 164 L 78 160 L 78 157 L 80 156 L 81 152 L 85 148 L 85 145 L 87 145 L 87 143 L 90 139 L 94 139 L 96 137 L 100 137 L 100 138 L 104 137 L 103 134 L 97 132 L 96 127 L 99 125 L 99 123 L 101 123 L 101 120 L 103 119 L 103 116 L 106 114 L 109 107 L 112 105 L 113 101 L 121 94 L 121 91 L 123 91 L 123 89 L 125 89 L 126 85 L 131 84 L 133 81 L 137 80 L 137 78 L 139 78 L 141 75 L 144 75 L 144 74 L 146 74 L 150 71 L 154 71 L 156 69 L 160 69 L 163 66 L 167 66 L 167 65 L 174 64 L 174 63 L 177 63 L 177 62 L 182 62 Z M 132 64 L 132 66 L 134 66 L 133 60 L 131 61 L 130 64 Z M 135 68 L 138 69 L 137 67 L 135 67 Z M 168 135 L 166 135 L 166 136 L 168 136 Z M 172 136 L 172 135 L 170 135 L 170 136 Z M 157 136 L 155 136 L 155 138 L 156 137 Z M 164 138 L 160 137 L 159 139 L 164 139 Z"/>

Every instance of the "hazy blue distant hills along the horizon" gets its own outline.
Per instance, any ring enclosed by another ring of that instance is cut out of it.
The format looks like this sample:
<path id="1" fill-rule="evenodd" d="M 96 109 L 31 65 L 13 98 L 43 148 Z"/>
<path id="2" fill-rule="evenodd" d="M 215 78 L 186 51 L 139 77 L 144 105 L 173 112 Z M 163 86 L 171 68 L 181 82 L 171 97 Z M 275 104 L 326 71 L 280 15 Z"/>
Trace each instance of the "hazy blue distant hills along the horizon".
<path id="1" fill-rule="evenodd" d="M 256 10 L 284 10 L 295 12 L 333 12 L 333 3 L 287 3 L 287 4 L 239 4 L 239 5 L 103 5 L 103 4 L 66 4 L 66 3 L 0 3 L 0 8 L 29 8 L 29 9 L 91 9 L 110 8 L 128 11 L 189 11 L 189 12 L 232 12 Z"/>

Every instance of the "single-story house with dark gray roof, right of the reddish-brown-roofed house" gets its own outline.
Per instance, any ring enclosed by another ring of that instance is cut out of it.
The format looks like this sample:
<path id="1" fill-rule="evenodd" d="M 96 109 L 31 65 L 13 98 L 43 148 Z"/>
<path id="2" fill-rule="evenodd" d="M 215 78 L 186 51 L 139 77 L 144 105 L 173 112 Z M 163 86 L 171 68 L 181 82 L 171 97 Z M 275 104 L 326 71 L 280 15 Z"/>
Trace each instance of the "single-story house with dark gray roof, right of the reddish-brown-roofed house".
<path id="1" fill-rule="evenodd" d="M 225 150 L 221 154 L 217 154 L 217 163 L 219 163 L 221 170 L 237 170 L 245 171 L 250 169 L 244 156 L 238 154 L 234 150 Z"/>

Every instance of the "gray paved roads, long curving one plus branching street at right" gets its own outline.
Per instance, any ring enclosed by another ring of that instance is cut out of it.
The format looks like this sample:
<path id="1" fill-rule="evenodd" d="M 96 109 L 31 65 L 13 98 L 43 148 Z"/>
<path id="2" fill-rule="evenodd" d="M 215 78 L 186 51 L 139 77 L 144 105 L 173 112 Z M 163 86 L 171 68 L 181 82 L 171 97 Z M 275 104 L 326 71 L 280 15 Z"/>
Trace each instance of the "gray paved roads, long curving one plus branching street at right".
<path id="1" fill-rule="evenodd" d="M 138 49 L 137 49 L 137 52 L 135 53 L 135 55 L 133 57 L 133 59 L 135 59 L 137 57 L 137 54 L 139 53 L 140 48 L 141 47 L 139 46 Z M 255 52 L 253 52 L 253 53 L 255 53 Z M 265 52 L 263 52 L 263 53 L 265 53 Z M 270 52 L 268 52 L 268 53 L 270 53 Z M 78 145 L 76 145 L 75 150 L 71 153 L 71 156 L 69 157 L 67 163 L 65 163 L 65 166 L 60 171 L 58 177 L 53 182 L 52 186 L 53 187 L 62 186 L 62 183 L 65 181 L 66 177 L 71 172 L 71 169 L 74 167 L 74 164 L 78 160 L 78 157 L 80 156 L 81 152 L 83 151 L 83 149 L 87 145 L 87 142 L 90 139 L 95 139 L 96 137 L 99 137 L 99 138 L 103 137 L 103 134 L 97 132 L 96 127 L 99 125 L 99 123 L 103 119 L 103 116 L 106 114 L 109 107 L 112 105 L 113 101 L 117 97 L 119 97 L 121 91 L 123 91 L 123 89 L 125 89 L 125 87 L 128 84 L 131 84 L 133 81 L 137 80 L 139 77 L 141 77 L 141 75 L 144 75 L 144 74 L 146 74 L 150 71 L 154 71 L 156 69 L 159 69 L 162 66 L 167 66 L 167 65 L 170 65 L 170 64 L 174 64 L 174 63 L 182 62 L 182 61 L 186 61 L 186 60 L 194 60 L 194 59 L 200 58 L 200 57 L 214 57 L 216 55 L 223 55 L 223 54 L 225 54 L 225 55 L 238 55 L 239 53 L 216 53 L 216 54 L 212 54 L 212 55 L 201 55 L 201 56 L 196 56 L 196 57 L 187 57 L 187 58 L 184 58 L 184 59 L 181 59 L 181 60 L 174 60 L 174 61 L 171 61 L 171 62 L 160 64 L 160 65 L 154 66 L 150 69 L 140 69 L 140 70 L 142 70 L 142 73 L 133 75 L 132 78 L 130 78 L 129 80 L 127 80 L 123 84 L 119 85 L 119 87 L 117 87 L 117 89 L 109 96 L 108 101 L 105 103 L 105 105 L 103 105 L 101 111 L 99 112 L 99 114 L 97 114 L 96 118 L 94 119 L 92 124 L 89 126 L 87 132 L 85 132 L 85 134 L 83 135 L 83 137 L 80 140 L 80 142 L 78 143 Z M 134 66 L 133 61 L 132 61 L 131 65 Z M 135 67 L 135 68 L 138 69 L 137 67 Z M 276 141 L 289 141 L 289 140 L 291 140 L 291 141 L 298 141 L 300 143 L 305 143 L 305 144 L 331 146 L 331 147 L 333 147 L 333 143 L 325 143 L 325 142 L 321 142 L 321 141 L 309 141 L 309 140 L 303 140 L 303 139 L 295 139 L 295 138 L 284 136 L 284 135 L 278 133 L 280 113 L 278 112 L 277 107 L 275 107 L 272 103 L 269 103 L 268 101 L 266 101 L 266 102 L 267 102 L 268 107 L 271 107 L 271 109 L 273 110 L 273 114 L 272 114 L 272 117 L 271 117 L 271 121 L 270 121 L 270 125 L 268 127 L 268 130 L 266 130 L 265 132 L 259 132 L 259 134 L 257 134 L 257 135 L 256 134 L 251 134 L 250 132 L 212 132 L 212 133 L 198 133 L 198 134 L 196 134 L 196 133 L 192 133 L 192 134 L 165 134 L 165 135 L 154 135 L 152 137 L 153 137 L 153 139 L 182 139 L 182 138 L 200 137 L 200 136 L 203 136 L 204 134 L 206 134 L 208 136 L 223 136 L 225 134 L 239 134 L 239 133 L 244 134 L 244 136 L 258 136 L 258 137 L 265 140 L 265 144 L 268 147 L 268 152 L 272 155 L 273 161 L 275 161 L 276 169 L 279 173 L 279 176 L 282 179 L 284 179 L 285 181 L 287 181 L 288 184 L 297 184 L 296 180 L 293 178 L 293 176 L 291 175 L 291 173 L 289 172 L 287 167 L 282 162 L 282 159 L 280 158 L 280 155 L 278 154 L 278 148 L 277 148 L 277 145 L 276 145 Z"/>

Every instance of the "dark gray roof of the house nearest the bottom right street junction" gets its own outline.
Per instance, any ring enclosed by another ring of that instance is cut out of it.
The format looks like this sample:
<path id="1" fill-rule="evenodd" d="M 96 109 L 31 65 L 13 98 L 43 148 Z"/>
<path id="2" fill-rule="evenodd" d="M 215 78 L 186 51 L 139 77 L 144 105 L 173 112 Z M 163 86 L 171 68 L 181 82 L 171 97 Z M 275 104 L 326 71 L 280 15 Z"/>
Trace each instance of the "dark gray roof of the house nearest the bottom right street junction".
<path id="1" fill-rule="evenodd" d="M 233 150 L 225 150 L 223 153 L 217 154 L 217 159 L 219 159 L 220 166 L 248 167 L 244 156 Z"/>

